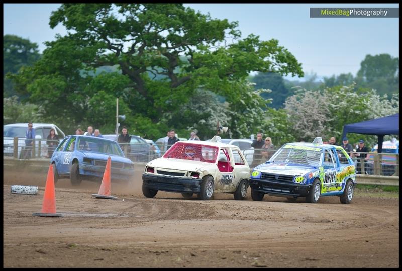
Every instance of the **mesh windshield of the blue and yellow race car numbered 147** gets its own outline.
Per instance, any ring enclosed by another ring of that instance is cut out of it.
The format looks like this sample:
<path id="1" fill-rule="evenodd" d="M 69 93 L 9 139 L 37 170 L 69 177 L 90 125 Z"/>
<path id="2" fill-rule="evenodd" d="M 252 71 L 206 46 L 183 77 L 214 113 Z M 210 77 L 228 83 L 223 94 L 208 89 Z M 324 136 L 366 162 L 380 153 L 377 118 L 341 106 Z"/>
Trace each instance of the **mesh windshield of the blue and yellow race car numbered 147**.
<path id="1" fill-rule="evenodd" d="M 284 147 L 280 148 L 271 157 L 271 159 L 269 159 L 269 161 L 274 163 L 321 166 L 321 162 L 323 160 L 323 153 L 321 152 L 321 150 L 320 151 L 318 150 L 320 149 L 303 147 L 303 146 L 293 147 L 291 145 L 285 145 Z"/>

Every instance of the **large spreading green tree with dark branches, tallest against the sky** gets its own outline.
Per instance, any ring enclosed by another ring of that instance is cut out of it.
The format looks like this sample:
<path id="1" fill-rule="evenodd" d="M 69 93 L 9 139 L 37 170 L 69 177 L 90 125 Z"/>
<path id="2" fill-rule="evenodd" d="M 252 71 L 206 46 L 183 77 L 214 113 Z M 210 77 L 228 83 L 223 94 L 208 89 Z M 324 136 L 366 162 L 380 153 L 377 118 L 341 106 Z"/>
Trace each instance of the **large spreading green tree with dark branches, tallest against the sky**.
<path id="1" fill-rule="evenodd" d="M 52 28 L 59 23 L 67 36 L 46 43 L 43 58 L 12 78 L 31 102 L 44 104 L 46 114 L 57 110 L 73 122 L 99 104 L 89 102 L 88 85 L 103 66 L 118 66 L 125 95 L 115 97 L 148 123 L 176 112 L 196 89 L 242 104 L 245 94 L 233 89 L 251 71 L 303 75 L 277 40 L 240 39 L 237 22 L 211 19 L 182 4 L 63 4 L 50 18 Z"/>

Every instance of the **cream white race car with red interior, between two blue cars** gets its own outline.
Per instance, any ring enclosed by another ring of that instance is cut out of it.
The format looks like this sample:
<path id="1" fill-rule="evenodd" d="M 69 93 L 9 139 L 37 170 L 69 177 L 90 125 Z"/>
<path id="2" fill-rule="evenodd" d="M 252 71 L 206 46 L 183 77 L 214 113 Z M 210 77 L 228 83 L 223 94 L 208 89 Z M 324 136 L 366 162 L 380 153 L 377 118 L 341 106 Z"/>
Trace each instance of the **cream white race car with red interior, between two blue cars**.
<path id="1" fill-rule="evenodd" d="M 160 158 L 150 161 L 142 174 L 142 192 L 153 198 L 159 190 L 209 200 L 213 193 L 246 197 L 249 165 L 239 147 L 211 141 L 178 141 Z"/>

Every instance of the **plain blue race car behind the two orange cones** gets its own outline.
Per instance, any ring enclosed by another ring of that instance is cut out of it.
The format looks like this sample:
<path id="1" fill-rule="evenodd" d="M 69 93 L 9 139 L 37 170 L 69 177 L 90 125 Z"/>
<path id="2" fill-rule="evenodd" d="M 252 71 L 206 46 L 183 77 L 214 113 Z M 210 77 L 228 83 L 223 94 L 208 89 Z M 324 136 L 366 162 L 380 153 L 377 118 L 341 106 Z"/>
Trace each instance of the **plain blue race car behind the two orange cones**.
<path id="1" fill-rule="evenodd" d="M 50 158 L 50 163 L 55 164 L 54 181 L 69 177 L 76 186 L 82 179 L 102 180 L 109 156 L 111 181 L 129 181 L 134 174 L 134 163 L 124 157 L 117 142 L 94 136 L 67 136 Z"/>

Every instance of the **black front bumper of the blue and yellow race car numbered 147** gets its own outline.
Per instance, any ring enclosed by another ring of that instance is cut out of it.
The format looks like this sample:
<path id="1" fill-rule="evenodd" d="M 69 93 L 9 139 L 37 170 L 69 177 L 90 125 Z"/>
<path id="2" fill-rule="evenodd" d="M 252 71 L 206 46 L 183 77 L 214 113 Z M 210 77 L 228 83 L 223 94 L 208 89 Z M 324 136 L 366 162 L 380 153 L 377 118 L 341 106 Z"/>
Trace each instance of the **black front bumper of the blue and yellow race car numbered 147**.
<path id="1" fill-rule="evenodd" d="M 273 180 L 250 179 L 250 188 L 273 196 L 306 197 L 309 194 L 311 184 L 301 185 L 291 182 Z"/>

